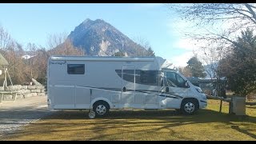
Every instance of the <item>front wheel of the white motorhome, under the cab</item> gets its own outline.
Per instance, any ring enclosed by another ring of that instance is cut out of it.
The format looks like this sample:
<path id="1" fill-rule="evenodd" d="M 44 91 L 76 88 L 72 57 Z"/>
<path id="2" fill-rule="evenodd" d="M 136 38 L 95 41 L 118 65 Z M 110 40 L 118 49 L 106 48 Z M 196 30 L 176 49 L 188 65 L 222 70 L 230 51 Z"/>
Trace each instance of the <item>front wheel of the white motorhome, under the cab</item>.
<path id="1" fill-rule="evenodd" d="M 193 98 L 187 98 L 182 101 L 181 110 L 183 114 L 194 114 L 198 110 L 198 102 Z"/>

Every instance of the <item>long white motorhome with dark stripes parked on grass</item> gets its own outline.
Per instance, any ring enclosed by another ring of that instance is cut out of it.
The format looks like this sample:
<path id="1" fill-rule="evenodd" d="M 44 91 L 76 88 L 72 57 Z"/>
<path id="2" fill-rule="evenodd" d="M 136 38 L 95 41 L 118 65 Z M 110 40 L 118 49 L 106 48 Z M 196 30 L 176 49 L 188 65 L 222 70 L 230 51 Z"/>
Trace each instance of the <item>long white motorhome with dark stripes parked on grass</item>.
<path id="1" fill-rule="evenodd" d="M 206 95 L 160 57 L 51 56 L 47 70 L 50 110 L 176 109 L 194 114 Z"/>

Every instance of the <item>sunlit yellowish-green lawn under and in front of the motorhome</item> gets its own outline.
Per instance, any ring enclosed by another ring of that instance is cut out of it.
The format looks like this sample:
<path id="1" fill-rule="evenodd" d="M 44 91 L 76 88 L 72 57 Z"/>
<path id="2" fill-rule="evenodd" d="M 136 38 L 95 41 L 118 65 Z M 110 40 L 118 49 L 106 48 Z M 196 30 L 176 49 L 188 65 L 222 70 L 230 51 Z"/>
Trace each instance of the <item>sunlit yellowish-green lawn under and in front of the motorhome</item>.
<path id="1" fill-rule="evenodd" d="M 194 115 L 174 110 L 111 110 L 105 118 L 88 111 L 60 111 L 2 140 L 256 140 L 256 106 L 246 116 L 228 114 L 228 103 L 208 100 Z"/>

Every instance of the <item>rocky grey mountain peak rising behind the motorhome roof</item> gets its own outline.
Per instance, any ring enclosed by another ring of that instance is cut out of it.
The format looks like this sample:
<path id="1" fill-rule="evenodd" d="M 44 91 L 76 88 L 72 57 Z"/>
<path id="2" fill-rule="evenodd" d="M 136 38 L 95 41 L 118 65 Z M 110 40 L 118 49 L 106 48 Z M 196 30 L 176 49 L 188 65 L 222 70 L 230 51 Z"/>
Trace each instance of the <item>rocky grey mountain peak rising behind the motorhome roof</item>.
<path id="1" fill-rule="evenodd" d="M 74 46 L 84 49 L 87 55 L 113 55 L 121 51 L 134 56 L 138 54 L 138 51 L 146 51 L 145 48 L 102 19 L 93 21 L 86 18 L 71 31 L 68 38 Z"/>

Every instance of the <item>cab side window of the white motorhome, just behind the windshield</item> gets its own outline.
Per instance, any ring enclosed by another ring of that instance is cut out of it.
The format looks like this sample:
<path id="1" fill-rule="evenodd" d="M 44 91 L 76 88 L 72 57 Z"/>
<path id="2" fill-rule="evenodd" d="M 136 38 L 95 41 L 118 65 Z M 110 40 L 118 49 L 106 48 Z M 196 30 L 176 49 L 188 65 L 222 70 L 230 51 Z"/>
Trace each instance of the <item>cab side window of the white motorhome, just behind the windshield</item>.
<path id="1" fill-rule="evenodd" d="M 174 72 L 166 72 L 165 86 L 186 87 L 186 81 Z"/>

